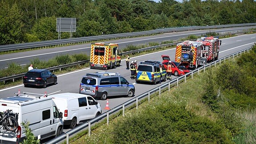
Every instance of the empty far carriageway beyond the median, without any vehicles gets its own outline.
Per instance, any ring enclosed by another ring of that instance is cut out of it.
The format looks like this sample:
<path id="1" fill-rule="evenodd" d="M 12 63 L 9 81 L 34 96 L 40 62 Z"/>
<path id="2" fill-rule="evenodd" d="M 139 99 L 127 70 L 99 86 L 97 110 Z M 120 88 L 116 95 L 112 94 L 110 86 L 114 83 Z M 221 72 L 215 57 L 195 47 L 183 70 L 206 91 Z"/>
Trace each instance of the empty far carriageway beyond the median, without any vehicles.
<path id="1" fill-rule="evenodd" d="M 143 45 L 148 44 L 150 42 L 161 43 L 162 41 L 168 40 L 179 40 L 181 38 L 185 38 L 189 35 L 204 35 L 206 32 L 224 32 L 229 30 L 236 30 L 241 28 L 255 28 L 254 27 L 240 27 L 240 28 L 223 28 L 223 29 L 211 29 L 211 30 L 198 30 L 198 31 L 189 31 L 189 32 L 174 32 L 174 33 L 165 33 L 161 35 L 153 35 L 153 36 L 143 36 L 136 38 L 128 38 L 128 39 L 120 39 L 120 40 L 111 40 L 111 41 L 100 41 L 100 42 L 110 42 L 110 43 L 118 43 L 119 48 L 125 48 L 127 45 Z M 8 64 L 15 62 L 16 64 L 26 65 L 30 64 L 30 61 L 38 58 L 39 60 L 49 60 L 57 55 L 65 55 L 65 54 L 75 54 L 75 53 L 86 53 L 90 52 L 90 44 L 79 44 L 79 45 L 71 45 L 65 47 L 56 47 L 56 48 L 45 48 L 27 52 L 17 52 L 4 54 L 0 56 L 0 69 L 7 68 Z"/>

